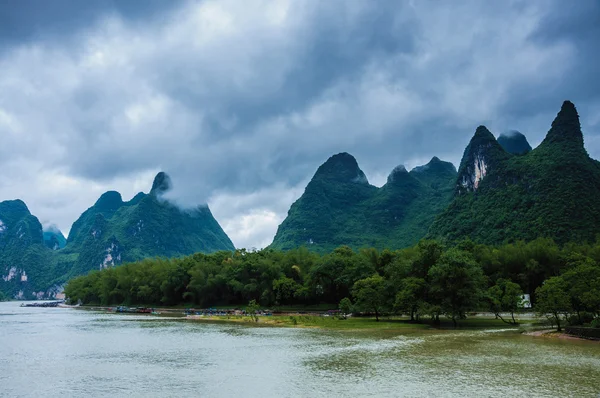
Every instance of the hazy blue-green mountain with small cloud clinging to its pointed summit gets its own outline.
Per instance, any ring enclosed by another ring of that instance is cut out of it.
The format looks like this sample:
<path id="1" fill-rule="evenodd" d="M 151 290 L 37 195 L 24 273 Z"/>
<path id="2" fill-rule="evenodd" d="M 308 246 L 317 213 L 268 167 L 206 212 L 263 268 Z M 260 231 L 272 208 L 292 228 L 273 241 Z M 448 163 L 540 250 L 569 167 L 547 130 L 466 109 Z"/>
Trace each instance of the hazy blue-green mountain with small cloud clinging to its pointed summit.
<path id="1" fill-rule="evenodd" d="M 170 184 L 161 172 L 149 194 L 140 192 L 128 202 L 115 191 L 100 196 L 73 223 L 66 247 L 58 252 L 59 258 L 74 258 L 68 275 L 146 257 L 234 250 L 208 206 L 180 209 L 162 198 Z"/>

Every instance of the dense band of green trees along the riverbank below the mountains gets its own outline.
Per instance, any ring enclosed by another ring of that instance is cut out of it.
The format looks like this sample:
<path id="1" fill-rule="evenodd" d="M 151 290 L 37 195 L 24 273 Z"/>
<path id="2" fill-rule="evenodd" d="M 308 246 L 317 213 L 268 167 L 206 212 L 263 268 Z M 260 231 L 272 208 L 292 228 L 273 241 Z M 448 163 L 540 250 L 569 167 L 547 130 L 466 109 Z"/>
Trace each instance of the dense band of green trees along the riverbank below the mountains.
<path id="1" fill-rule="evenodd" d="M 242 249 L 93 271 L 69 281 L 65 293 L 71 302 L 102 305 L 341 302 L 344 312 L 434 322 L 447 316 L 455 323 L 478 310 L 514 323 L 521 295 L 529 293 L 535 308 L 555 322 L 568 316 L 584 323 L 600 317 L 599 264 L 600 242 L 559 247 L 549 239 L 497 247 L 423 240 L 397 251 L 341 246 L 324 255 L 304 248 Z"/>

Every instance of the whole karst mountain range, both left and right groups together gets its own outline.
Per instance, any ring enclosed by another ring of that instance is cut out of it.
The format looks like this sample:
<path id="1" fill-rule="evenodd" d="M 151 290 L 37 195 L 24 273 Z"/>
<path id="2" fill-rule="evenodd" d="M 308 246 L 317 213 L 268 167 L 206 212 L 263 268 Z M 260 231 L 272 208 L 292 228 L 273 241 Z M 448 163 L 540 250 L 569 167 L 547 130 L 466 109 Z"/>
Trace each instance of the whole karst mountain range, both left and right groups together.
<path id="1" fill-rule="evenodd" d="M 0 203 L 0 291 L 53 297 L 71 277 L 145 257 L 234 250 L 208 207 L 180 209 L 163 195 L 159 173 L 148 194 L 124 202 L 104 193 L 73 224 L 68 239 L 42 228 L 20 200 Z M 583 145 L 579 115 L 565 101 L 544 141 L 532 149 L 517 131 L 498 139 L 475 131 L 458 171 L 437 157 L 398 166 L 378 188 L 348 153 L 323 163 L 291 206 L 271 248 L 340 245 L 399 249 L 423 238 L 501 244 L 549 237 L 593 241 L 600 232 L 600 163 Z"/>

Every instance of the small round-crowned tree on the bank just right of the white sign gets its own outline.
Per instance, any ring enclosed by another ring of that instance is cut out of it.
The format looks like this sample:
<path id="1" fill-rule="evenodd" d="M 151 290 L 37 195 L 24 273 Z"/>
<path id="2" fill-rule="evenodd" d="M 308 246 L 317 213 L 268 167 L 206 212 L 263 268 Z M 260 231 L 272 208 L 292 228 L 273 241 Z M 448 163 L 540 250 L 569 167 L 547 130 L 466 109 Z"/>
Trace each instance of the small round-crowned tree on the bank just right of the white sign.
<path id="1" fill-rule="evenodd" d="M 556 323 L 556 330 L 560 332 L 560 316 L 566 317 L 571 311 L 571 298 L 564 279 L 560 276 L 547 279 L 542 286 L 535 289 L 535 294 L 537 312 Z"/>

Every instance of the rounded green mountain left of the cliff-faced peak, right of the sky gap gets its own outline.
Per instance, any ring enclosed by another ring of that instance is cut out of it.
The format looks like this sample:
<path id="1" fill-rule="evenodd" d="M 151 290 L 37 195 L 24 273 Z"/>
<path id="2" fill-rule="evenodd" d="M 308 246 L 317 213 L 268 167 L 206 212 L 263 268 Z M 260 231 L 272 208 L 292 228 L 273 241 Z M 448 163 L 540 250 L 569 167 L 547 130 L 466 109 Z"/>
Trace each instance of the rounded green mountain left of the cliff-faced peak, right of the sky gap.
<path id="1" fill-rule="evenodd" d="M 395 168 L 377 188 L 350 154 L 321 165 L 291 206 L 270 247 L 306 246 L 318 252 L 339 245 L 400 248 L 416 243 L 450 201 L 456 169 L 434 157 L 408 172 Z"/>

